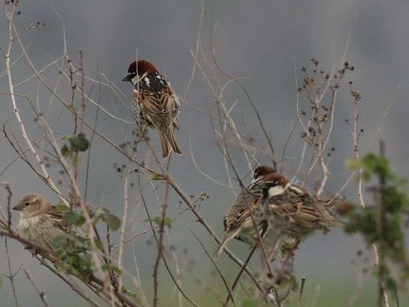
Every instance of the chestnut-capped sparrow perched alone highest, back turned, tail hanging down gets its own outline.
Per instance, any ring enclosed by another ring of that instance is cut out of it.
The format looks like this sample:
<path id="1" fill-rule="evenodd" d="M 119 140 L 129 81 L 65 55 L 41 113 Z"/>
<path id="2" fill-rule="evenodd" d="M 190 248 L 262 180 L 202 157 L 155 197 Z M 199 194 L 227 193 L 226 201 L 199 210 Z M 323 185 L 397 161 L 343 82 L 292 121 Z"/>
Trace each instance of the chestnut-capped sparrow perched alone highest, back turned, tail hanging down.
<path id="1" fill-rule="evenodd" d="M 180 102 L 169 81 L 147 60 L 133 61 L 122 81 L 133 85 L 132 115 L 141 127 L 157 129 L 161 140 L 162 158 L 170 151 L 183 155 L 173 133 L 173 127 L 179 129 L 177 119 Z"/>

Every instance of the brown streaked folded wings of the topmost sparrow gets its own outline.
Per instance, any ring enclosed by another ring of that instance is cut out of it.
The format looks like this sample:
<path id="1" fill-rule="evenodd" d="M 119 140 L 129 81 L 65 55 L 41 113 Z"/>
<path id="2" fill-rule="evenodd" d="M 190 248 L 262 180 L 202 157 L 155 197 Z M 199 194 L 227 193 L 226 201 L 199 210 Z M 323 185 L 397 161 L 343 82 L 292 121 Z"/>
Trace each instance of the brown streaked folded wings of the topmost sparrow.
<path id="1" fill-rule="evenodd" d="M 139 101 L 147 114 L 165 125 L 170 125 L 171 122 L 173 95 L 170 86 L 156 92 L 133 89 L 133 99 Z"/>

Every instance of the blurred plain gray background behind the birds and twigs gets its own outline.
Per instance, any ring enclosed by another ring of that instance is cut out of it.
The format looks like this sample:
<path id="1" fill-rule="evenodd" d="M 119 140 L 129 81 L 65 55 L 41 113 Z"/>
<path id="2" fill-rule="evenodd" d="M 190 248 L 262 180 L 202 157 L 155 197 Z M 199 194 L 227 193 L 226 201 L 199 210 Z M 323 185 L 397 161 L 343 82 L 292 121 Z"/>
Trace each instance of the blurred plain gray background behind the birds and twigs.
<path id="1" fill-rule="evenodd" d="M 98 70 L 103 72 L 127 95 L 128 106 L 131 85 L 121 80 L 127 72 L 129 63 L 137 55 L 139 58 L 152 61 L 160 72 L 167 75 L 175 92 L 183 97 L 193 68 L 193 57 L 190 50 L 194 52 L 196 49 L 200 1 L 115 2 L 98 0 L 84 2 L 73 0 L 69 2 L 52 1 L 51 4 L 64 20 L 67 50 L 71 51 L 70 57 L 73 62 L 78 66 L 78 51 L 81 49 L 84 54 L 85 74 L 89 78 L 98 80 Z M 22 36 L 22 41 L 27 46 L 35 33 L 27 52 L 38 70 L 51 62 L 49 56 L 56 59 L 63 53 L 62 24 L 52 6 L 49 2 L 20 2 L 21 14 L 14 17 L 14 22 L 20 29 L 24 26 L 25 15 L 29 19 L 33 18 L 46 23 L 45 27 Z M 11 5 L 8 5 L 8 8 L 11 10 Z M 346 119 L 349 119 L 351 123 L 353 119 L 352 98 L 348 94 L 349 81 L 353 81 L 353 88 L 362 95 L 359 102 L 361 114 L 358 128 L 363 129 L 364 134 L 359 140 L 360 153 L 365 152 L 368 148 L 388 105 L 396 95 L 371 149 L 377 151 L 379 139 L 384 139 L 387 144 L 387 155 L 393 167 L 403 177 L 407 177 L 409 165 L 407 164 L 406 134 L 409 128 L 407 121 L 409 105 L 405 89 L 409 81 L 407 73 L 409 68 L 407 62 L 409 52 L 408 12 L 409 4 L 406 1 L 205 1 L 201 46 L 206 57 L 211 59 L 211 34 L 217 25 L 214 39 L 216 59 L 223 70 L 242 78 L 246 90 L 261 113 L 262 121 L 271 135 L 275 150 L 281 158 L 289 130 L 297 118 L 294 59 L 297 64 L 299 84 L 303 78 L 301 67 L 304 65 L 308 69 L 312 57 L 318 59 L 319 68 L 328 73 L 331 72 L 334 65 L 335 69 L 338 69 L 356 13 L 356 21 L 346 56 L 346 60 L 355 67 L 355 70 L 347 72 L 343 86 L 339 89 L 333 134 L 328 143 L 328 148 L 334 146 L 336 150 L 329 164 L 332 176 L 328 182 L 327 191 L 335 192 L 348 180 L 351 172 L 345 169 L 344 162 L 354 154 L 350 128 L 345 122 Z M 0 47 L 6 49 L 8 23 L 4 13 L 0 16 L 0 28 L 2 29 Z M 21 50 L 15 42 L 12 49 L 12 61 L 17 59 L 20 53 Z M 203 56 L 199 56 L 199 63 L 206 67 Z M 3 62 L 0 73 L 3 73 L 4 70 Z M 208 77 L 212 77 L 208 67 L 206 73 Z M 31 70 L 22 60 L 17 61 L 12 68 L 12 79 L 15 84 L 31 75 Z M 229 80 L 220 73 L 218 76 L 222 84 Z M 58 93 L 65 99 L 70 99 L 70 83 L 63 78 L 57 83 L 59 74 L 55 65 L 48 69 L 43 77 L 53 87 L 58 85 Z M 2 80 L 0 91 L 8 92 L 6 74 L 0 79 Z M 80 82 L 80 79 L 76 79 Z M 402 85 L 397 91 L 400 82 Z M 34 102 L 37 99 L 37 90 L 40 109 L 46 114 L 50 106 L 49 123 L 53 124 L 63 106 L 57 99 L 52 99 L 50 92 L 39 85 L 38 80 L 33 79 L 15 89 L 16 93 L 28 95 Z M 98 91 L 98 85 L 95 82 L 87 81 L 86 92 L 90 92 L 90 96 L 95 101 L 98 101 Z M 232 113 L 239 130 L 246 133 L 241 119 L 242 113 L 255 142 L 263 144 L 263 135 L 257 118 L 239 86 L 234 83 L 230 84 L 225 94 L 224 102 L 228 106 L 239 99 Z M 12 114 L 10 97 L 1 95 L 0 99 L 0 122 L 7 122 L 18 142 L 26 149 L 16 118 Z M 215 114 L 214 95 L 198 68 L 186 100 L 198 108 Z M 76 101 L 80 101 L 79 95 Z M 119 117 L 133 122 L 128 109 L 105 87 L 101 90 L 100 103 L 111 114 L 118 114 Z M 303 100 L 300 100 L 300 103 L 303 103 Z M 17 106 L 29 138 L 38 141 L 42 136 L 42 131 L 33 120 L 31 106 L 24 98 L 17 98 Z M 95 121 L 96 110 L 95 105 L 89 104 L 86 111 L 86 118 L 89 122 Z M 222 236 L 222 218 L 234 200 L 234 193 L 232 189 L 202 176 L 192 161 L 193 156 L 199 168 L 215 180 L 228 184 L 224 161 L 215 144 L 211 120 L 207 114 L 185 104 L 179 125 L 181 128 L 176 131 L 176 137 L 185 155 L 172 157 L 170 171 L 187 194 L 198 196 L 201 191 L 206 191 L 210 195 L 210 198 L 201 204 L 200 212 Z M 113 142 L 120 144 L 125 139 L 121 128 L 125 136 L 132 140 L 131 130 L 134 126 L 100 112 L 97 128 Z M 301 156 L 303 141 L 300 138 L 299 126 L 297 129 L 290 140 L 286 158 Z M 73 117 L 69 111 L 63 111 L 53 131 L 57 139 L 73 133 Z M 90 136 L 89 130 L 85 132 L 87 136 Z M 150 137 L 151 143 L 158 152 L 159 144 L 156 134 L 150 133 Z M 189 149 L 189 138 L 191 138 L 192 150 Z M 4 137 L 0 138 L 0 142 L 0 171 L 3 171 L 16 158 L 16 153 Z M 47 144 L 44 146 L 47 147 Z M 145 144 L 141 144 L 139 148 L 140 156 L 145 157 Z M 247 165 L 237 149 L 232 149 L 232 152 L 236 166 L 241 176 L 244 177 L 248 172 Z M 42 157 L 44 156 L 47 156 L 47 153 L 43 152 Z M 81 164 L 82 189 L 85 183 L 85 160 L 86 155 L 83 156 Z M 90 161 L 87 202 L 107 207 L 111 212 L 122 217 L 123 181 L 113 164 L 125 164 L 131 167 L 130 164 L 121 153 L 106 145 L 98 137 L 94 139 Z M 268 163 L 268 160 L 263 158 L 260 162 Z M 287 176 L 293 176 L 292 170 L 298 166 L 298 163 L 298 159 L 286 162 Z M 152 158 L 150 158 L 149 166 L 158 169 L 152 162 Z M 50 162 L 48 170 L 53 180 L 57 182 L 59 180 L 58 167 L 53 161 Z M 20 159 L 7 168 L 0 180 L 10 183 L 13 203 L 32 190 L 41 193 L 50 202 L 58 201 L 55 194 L 38 178 L 36 179 L 32 170 Z M 64 178 L 62 180 L 66 182 Z M 308 183 L 310 188 L 313 187 L 314 180 L 320 180 L 319 174 L 311 177 Z M 137 178 L 132 177 L 131 181 L 137 183 Z M 248 182 L 247 177 L 244 183 Z M 238 187 L 234 179 L 233 184 Z M 160 200 L 163 200 L 164 184 L 154 182 L 154 185 L 159 186 L 158 196 Z M 67 193 L 65 184 L 59 187 L 64 193 Z M 149 186 L 146 188 L 147 195 L 151 194 L 150 189 Z M 342 193 L 348 199 L 356 201 L 354 180 L 349 182 Z M 130 214 L 135 212 L 135 202 L 138 204 L 139 200 L 138 194 L 138 189 L 130 191 L 132 206 Z M 0 189 L 0 204 L 3 208 L 5 208 L 6 196 L 5 190 Z M 179 211 L 177 204 L 179 200 L 172 191 L 169 199 L 170 216 L 176 215 Z M 365 200 L 370 202 L 371 196 L 367 194 Z M 152 197 L 149 201 L 151 201 L 150 213 L 157 215 L 159 211 L 155 199 Z M 185 209 L 185 204 L 181 205 L 180 209 Z M 135 219 L 137 223 L 127 225 L 127 237 L 147 229 L 149 224 L 144 222 L 146 218 L 146 212 L 141 207 Z M 129 219 L 132 220 L 131 216 Z M 13 212 L 13 225 L 16 225 L 17 220 L 18 215 Z M 210 295 L 203 290 L 203 286 L 194 282 L 194 278 L 197 277 L 203 283 L 210 284 L 223 296 L 225 291 L 221 286 L 220 278 L 213 274 L 210 260 L 203 255 L 203 251 L 195 242 L 189 228 L 197 233 L 210 253 L 213 253 L 214 250 L 209 235 L 203 231 L 201 225 L 195 222 L 192 213 L 185 212 L 178 217 L 169 230 L 169 235 L 180 261 L 185 262 L 184 249 L 192 246 L 186 260 L 190 269 L 189 272 L 184 273 L 186 279 L 183 279 L 182 285 L 189 296 L 199 304 L 213 306 L 217 304 L 216 299 L 212 297 L 207 301 L 205 298 Z M 113 237 L 117 238 L 116 235 Z M 142 287 L 149 301 L 151 301 L 153 284 L 152 265 L 156 255 L 155 245 L 150 244 L 151 241 L 152 235 L 147 232 L 135 238 L 133 242 Z M 74 303 L 86 305 L 62 281 L 47 269 L 39 266 L 29 252 L 23 251 L 19 243 L 8 240 L 8 246 L 12 270 L 15 271 L 21 264 L 24 264 L 40 288 L 46 291 L 51 306 L 71 306 Z M 229 248 L 242 259 L 247 255 L 248 247 L 239 242 L 230 243 Z M 358 250 L 363 250 L 363 256 L 360 258 L 356 256 Z M 298 279 L 300 280 L 302 276 L 307 277 L 304 305 L 344 306 L 356 290 L 357 273 L 362 268 L 371 267 L 371 261 L 363 260 L 365 257 L 372 257 L 372 253 L 362 244 L 358 236 L 347 236 L 340 230 L 333 230 L 325 236 L 320 233 L 308 238 L 297 251 L 295 261 Z M 258 259 L 255 258 L 252 268 L 257 272 Z M 0 259 L 0 273 L 8 275 L 4 238 L 0 244 Z M 238 267 L 232 264 L 227 257 L 223 256 L 217 261 L 217 264 L 224 265 L 223 272 L 228 278 L 235 277 Z M 125 249 L 124 266 L 131 274 L 135 274 L 130 245 Z M 177 305 L 176 295 L 169 299 L 173 284 L 163 268 L 161 268 L 160 277 L 162 295 L 160 305 Z M 1 305 L 11 306 L 14 302 L 10 282 L 4 276 L 2 280 Z M 20 306 L 41 305 L 38 295 L 23 272 L 20 271 L 16 275 L 15 283 Z M 354 306 L 371 306 L 376 302 L 376 280 L 366 277 L 364 284 Z M 132 289 L 130 283 L 129 287 Z M 294 294 L 290 305 L 294 305 L 297 299 L 298 295 Z M 405 299 L 407 298 L 402 298 L 403 301 Z M 189 303 L 185 301 L 184 305 L 189 305 Z"/>

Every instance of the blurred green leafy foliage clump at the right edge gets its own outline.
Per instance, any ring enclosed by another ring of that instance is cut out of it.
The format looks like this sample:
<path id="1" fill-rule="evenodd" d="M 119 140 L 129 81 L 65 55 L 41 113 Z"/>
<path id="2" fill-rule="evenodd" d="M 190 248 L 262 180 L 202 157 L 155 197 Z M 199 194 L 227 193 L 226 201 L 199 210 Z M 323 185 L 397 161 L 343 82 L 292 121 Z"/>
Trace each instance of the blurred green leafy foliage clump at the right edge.
<path id="1" fill-rule="evenodd" d="M 403 217 L 409 205 L 405 179 L 391 168 L 386 157 L 373 152 L 367 153 L 360 160 L 348 160 L 346 166 L 361 166 L 363 181 L 376 178 L 382 183 L 371 187 L 371 192 L 375 194 L 374 206 L 350 212 L 346 231 L 359 232 L 367 243 L 377 245 L 379 266 L 375 273 L 385 287 L 395 293 L 399 286 L 398 280 L 409 279 Z M 395 278 L 391 273 L 394 266 L 400 269 L 396 270 L 400 271 L 399 278 Z"/>

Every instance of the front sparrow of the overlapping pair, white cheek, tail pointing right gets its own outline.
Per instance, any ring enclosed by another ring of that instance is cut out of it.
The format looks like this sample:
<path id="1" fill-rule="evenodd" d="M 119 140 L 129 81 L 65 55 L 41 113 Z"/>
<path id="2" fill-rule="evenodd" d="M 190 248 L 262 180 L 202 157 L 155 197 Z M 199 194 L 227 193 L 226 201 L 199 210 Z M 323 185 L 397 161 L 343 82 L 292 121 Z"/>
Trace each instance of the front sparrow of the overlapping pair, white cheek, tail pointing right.
<path id="1" fill-rule="evenodd" d="M 344 227 L 328 209 L 326 202 L 306 188 L 292 185 L 283 175 L 267 174 L 257 184 L 262 189 L 261 206 L 271 228 L 278 229 L 289 243 L 305 238 L 319 229 Z"/>

